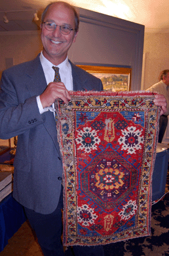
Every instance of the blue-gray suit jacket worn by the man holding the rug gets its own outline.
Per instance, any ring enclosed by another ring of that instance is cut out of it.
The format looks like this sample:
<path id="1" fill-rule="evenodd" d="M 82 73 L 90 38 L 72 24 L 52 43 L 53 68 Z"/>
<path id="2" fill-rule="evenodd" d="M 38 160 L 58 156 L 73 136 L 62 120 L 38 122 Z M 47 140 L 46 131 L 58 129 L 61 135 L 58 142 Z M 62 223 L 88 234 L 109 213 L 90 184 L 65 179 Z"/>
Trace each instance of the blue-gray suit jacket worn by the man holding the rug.
<path id="1" fill-rule="evenodd" d="M 71 63 L 73 90 L 103 90 L 102 82 Z M 62 184 L 54 114 L 40 115 L 36 97 L 47 87 L 39 55 L 5 70 L 1 78 L 0 138 L 18 136 L 14 198 L 37 213 L 52 213 Z"/>

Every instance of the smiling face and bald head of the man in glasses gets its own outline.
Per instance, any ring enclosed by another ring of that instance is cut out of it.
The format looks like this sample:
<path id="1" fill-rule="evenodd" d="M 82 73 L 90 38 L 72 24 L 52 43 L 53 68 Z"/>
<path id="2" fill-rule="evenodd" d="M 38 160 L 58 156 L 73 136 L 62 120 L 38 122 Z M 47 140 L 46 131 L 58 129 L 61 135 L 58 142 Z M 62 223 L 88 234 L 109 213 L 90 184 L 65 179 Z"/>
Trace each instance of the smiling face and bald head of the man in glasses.
<path id="1" fill-rule="evenodd" d="M 51 63 L 58 65 L 67 57 L 67 51 L 71 44 L 75 42 L 75 15 L 73 11 L 64 5 L 53 4 L 49 7 L 44 22 L 55 22 L 56 25 L 69 25 L 73 30 L 70 34 L 64 35 L 60 32 L 60 27 L 56 26 L 53 31 L 48 31 L 45 24 L 41 25 L 41 40 L 43 43 L 43 55 Z"/>

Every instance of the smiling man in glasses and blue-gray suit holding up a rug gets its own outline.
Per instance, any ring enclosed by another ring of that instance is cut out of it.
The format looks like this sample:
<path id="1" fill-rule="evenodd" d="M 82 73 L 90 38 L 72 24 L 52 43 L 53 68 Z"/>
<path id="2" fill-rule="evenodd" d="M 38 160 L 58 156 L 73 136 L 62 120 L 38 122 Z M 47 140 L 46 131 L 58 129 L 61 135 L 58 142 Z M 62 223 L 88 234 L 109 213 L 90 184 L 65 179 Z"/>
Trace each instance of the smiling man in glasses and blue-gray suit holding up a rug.
<path id="1" fill-rule="evenodd" d="M 33 61 L 5 70 L 0 86 L 0 138 L 18 136 L 14 198 L 24 205 L 45 256 L 64 255 L 62 161 L 51 105 L 57 98 L 69 101 L 69 90 L 103 90 L 98 78 L 67 61 L 78 24 L 71 5 L 49 5 L 42 16 L 43 52 Z M 62 82 L 52 82 L 52 66 L 60 68 Z M 158 95 L 155 101 L 163 112 L 164 97 Z M 77 256 L 104 255 L 102 246 L 73 246 L 73 251 Z"/>

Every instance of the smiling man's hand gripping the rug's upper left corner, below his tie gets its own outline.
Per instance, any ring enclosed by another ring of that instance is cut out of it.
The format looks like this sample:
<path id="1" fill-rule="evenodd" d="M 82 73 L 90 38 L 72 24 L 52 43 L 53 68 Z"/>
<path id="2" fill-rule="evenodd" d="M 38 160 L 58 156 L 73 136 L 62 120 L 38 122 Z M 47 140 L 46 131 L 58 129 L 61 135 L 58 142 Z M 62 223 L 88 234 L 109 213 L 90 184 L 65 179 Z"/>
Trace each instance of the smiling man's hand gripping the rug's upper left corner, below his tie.
<path id="1" fill-rule="evenodd" d="M 62 99 L 64 103 L 67 103 L 71 99 L 69 91 L 67 91 L 62 82 L 49 83 L 46 90 L 40 95 L 43 108 L 50 107 L 58 98 Z"/>

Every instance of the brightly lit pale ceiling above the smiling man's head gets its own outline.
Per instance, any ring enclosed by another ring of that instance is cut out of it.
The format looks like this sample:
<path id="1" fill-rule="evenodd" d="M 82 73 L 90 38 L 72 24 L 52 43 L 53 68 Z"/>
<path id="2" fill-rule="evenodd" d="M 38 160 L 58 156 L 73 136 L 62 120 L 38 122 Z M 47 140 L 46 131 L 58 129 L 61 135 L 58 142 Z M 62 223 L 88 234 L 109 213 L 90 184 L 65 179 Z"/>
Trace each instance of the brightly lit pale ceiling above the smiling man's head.
<path id="1" fill-rule="evenodd" d="M 169 32 L 168 0 L 66 0 L 68 3 L 145 25 L 145 32 Z M 33 13 L 41 13 L 50 0 L 1 0 L 0 32 L 37 30 Z M 3 22 L 7 13 L 9 23 Z"/>

